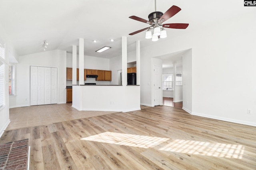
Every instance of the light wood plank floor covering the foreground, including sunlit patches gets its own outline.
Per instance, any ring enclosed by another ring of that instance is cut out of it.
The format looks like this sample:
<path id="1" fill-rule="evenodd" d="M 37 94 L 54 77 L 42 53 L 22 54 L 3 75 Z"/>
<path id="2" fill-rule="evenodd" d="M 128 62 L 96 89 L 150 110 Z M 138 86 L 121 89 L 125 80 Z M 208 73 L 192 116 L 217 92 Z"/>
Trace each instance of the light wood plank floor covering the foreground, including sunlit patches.
<path id="1" fill-rule="evenodd" d="M 168 106 L 5 131 L 29 139 L 30 170 L 255 170 L 256 127 Z"/>

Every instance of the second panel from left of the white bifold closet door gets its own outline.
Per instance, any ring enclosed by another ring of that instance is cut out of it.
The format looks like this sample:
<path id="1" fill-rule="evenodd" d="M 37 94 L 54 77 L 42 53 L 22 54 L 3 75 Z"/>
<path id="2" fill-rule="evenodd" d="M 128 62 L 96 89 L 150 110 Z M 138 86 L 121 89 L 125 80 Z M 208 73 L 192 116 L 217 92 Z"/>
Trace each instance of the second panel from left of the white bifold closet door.
<path id="1" fill-rule="evenodd" d="M 37 68 L 37 105 L 44 104 L 44 67 Z"/>

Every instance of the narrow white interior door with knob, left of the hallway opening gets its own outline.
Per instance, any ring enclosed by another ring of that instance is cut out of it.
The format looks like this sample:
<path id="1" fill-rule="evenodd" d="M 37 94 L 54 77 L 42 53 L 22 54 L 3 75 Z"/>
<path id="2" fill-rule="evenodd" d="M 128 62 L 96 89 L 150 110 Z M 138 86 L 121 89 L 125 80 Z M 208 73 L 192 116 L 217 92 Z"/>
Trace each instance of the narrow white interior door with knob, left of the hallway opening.
<path id="1" fill-rule="evenodd" d="M 154 65 L 154 106 L 158 106 L 161 104 L 161 84 L 160 84 L 160 66 Z"/>

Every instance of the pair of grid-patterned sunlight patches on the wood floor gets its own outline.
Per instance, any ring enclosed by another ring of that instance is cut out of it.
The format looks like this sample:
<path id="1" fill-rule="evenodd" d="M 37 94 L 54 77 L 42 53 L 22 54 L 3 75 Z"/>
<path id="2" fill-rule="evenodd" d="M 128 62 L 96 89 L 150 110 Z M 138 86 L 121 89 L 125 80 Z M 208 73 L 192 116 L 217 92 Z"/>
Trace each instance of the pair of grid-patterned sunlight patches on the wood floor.
<path id="1" fill-rule="evenodd" d="M 153 148 L 158 145 L 163 146 L 158 150 L 180 152 L 186 154 L 218 156 L 225 158 L 242 159 L 242 156 L 244 154 L 243 145 L 186 141 L 180 139 L 170 141 L 171 139 L 169 138 L 150 137 L 114 132 L 104 132 L 97 135 L 92 135 L 90 137 L 82 138 L 81 140 L 111 143 L 115 145 L 126 145 L 139 148 Z M 167 144 L 165 145 L 165 143 Z"/>

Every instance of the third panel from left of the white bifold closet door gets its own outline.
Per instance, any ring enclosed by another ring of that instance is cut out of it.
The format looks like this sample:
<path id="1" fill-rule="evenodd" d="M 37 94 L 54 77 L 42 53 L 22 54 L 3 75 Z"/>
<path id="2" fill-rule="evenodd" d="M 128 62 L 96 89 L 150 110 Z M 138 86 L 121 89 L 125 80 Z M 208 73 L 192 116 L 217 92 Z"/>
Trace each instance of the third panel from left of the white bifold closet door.
<path id="1" fill-rule="evenodd" d="M 44 104 L 51 104 L 51 68 L 44 68 Z"/>

